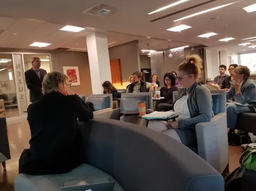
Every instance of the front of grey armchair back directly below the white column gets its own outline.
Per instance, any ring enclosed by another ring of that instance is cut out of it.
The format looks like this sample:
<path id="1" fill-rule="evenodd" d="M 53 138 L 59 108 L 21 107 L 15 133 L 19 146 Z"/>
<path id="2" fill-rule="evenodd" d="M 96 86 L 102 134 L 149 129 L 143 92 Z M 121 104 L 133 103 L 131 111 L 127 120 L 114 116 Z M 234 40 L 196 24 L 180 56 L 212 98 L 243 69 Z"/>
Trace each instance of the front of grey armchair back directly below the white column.
<path id="1" fill-rule="evenodd" d="M 108 96 L 92 96 L 88 97 L 87 102 L 92 102 L 94 111 L 103 110 L 112 105 L 109 105 L 109 97 Z"/>

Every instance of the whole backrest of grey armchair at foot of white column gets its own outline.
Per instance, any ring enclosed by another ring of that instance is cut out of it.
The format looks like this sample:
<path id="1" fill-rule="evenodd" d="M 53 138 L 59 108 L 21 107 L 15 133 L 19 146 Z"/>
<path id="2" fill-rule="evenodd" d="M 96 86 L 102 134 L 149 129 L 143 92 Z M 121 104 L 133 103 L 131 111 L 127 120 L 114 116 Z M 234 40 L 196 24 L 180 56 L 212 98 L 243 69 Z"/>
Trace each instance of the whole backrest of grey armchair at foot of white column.
<path id="1" fill-rule="evenodd" d="M 94 111 L 112 108 L 112 94 L 91 94 L 87 98 L 88 102 L 92 102 Z"/>

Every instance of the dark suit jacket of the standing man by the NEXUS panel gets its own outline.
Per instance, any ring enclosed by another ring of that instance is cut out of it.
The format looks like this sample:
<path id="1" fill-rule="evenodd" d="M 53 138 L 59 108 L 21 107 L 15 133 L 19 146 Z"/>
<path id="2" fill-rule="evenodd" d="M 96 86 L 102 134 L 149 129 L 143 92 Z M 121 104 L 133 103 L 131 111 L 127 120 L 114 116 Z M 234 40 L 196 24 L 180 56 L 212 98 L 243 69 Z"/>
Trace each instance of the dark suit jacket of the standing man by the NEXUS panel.
<path id="1" fill-rule="evenodd" d="M 40 79 L 36 74 L 36 72 L 33 70 L 33 68 L 25 72 L 26 86 L 30 90 L 29 96 L 30 96 L 30 102 L 32 103 L 39 100 L 43 95 L 42 82 L 47 72 L 44 69 L 39 69 L 39 71 L 41 75 Z"/>

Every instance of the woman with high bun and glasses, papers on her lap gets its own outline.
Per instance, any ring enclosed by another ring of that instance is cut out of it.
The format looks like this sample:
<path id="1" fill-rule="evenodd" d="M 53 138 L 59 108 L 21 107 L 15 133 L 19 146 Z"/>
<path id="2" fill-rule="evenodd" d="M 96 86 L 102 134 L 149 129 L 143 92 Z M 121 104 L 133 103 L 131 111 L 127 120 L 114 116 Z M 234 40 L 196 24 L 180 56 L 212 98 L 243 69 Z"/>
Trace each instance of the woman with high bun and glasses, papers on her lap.
<path id="1" fill-rule="evenodd" d="M 189 147 L 197 147 L 196 124 L 210 122 L 213 116 L 210 91 L 198 83 L 201 66 L 201 58 L 190 55 L 177 68 L 177 79 L 184 87 L 179 90 L 173 103 L 173 110 L 179 117 L 168 122 L 149 122 L 149 128 L 171 136 Z"/>

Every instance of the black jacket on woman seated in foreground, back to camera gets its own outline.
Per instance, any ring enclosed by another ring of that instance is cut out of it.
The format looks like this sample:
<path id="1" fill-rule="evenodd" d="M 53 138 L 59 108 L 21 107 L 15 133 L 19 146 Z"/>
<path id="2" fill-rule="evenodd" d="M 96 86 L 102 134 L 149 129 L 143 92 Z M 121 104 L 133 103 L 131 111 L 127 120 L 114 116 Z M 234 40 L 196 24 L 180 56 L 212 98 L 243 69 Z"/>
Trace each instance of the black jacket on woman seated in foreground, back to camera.
<path id="1" fill-rule="evenodd" d="M 32 175 L 67 173 L 83 163 L 79 121 L 93 112 L 77 95 L 59 92 L 44 95 L 27 108 L 30 148 L 20 156 L 19 173 Z"/>

